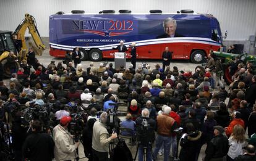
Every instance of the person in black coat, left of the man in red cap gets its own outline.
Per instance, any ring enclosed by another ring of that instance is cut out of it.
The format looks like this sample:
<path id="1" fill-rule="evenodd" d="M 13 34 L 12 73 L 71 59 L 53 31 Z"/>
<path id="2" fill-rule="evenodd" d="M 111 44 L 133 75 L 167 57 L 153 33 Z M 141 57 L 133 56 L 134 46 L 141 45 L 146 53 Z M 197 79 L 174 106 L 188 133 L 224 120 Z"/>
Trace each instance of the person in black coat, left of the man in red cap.
<path id="1" fill-rule="evenodd" d="M 41 133 L 41 123 L 32 122 L 32 134 L 24 141 L 22 147 L 23 157 L 30 161 L 51 161 L 54 158 L 54 141 L 49 134 Z"/>

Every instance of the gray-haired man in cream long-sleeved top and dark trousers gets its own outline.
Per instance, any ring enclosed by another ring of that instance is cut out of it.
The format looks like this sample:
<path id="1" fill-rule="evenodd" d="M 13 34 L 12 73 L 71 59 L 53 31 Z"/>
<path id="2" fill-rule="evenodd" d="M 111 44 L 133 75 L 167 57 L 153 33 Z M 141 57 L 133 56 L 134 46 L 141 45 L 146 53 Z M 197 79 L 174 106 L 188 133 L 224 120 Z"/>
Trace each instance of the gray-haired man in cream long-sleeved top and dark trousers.
<path id="1" fill-rule="evenodd" d="M 109 137 L 108 130 L 106 129 L 107 120 L 108 114 L 103 112 L 100 115 L 100 121 L 95 122 L 93 125 L 92 151 L 93 160 L 95 161 L 108 160 L 109 142 L 117 138 L 117 134 L 114 132 Z"/>

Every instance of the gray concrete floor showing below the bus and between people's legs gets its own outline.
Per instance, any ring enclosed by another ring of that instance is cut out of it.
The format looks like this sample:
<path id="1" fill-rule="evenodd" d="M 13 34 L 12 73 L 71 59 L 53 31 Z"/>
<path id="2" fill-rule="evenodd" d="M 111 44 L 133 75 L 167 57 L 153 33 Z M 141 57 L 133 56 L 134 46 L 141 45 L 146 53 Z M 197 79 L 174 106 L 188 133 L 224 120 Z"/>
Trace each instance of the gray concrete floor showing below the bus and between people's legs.
<path id="1" fill-rule="evenodd" d="M 62 60 L 64 59 L 60 59 L 60 58 L 55 58 L 55 57 L 51 57 L 49 56 L 49 50 L 45 50 L 43 52 L 43 55 L 42 56 L 36 56 L 36 58 L 38 60 L 40 60 L 40 63 L 45 65 L 45 67 L 47 67 L 47 65 L 51 62 L 51 60 L 55 60 L 56 62 L 56 65 L 58 64 L 58 62 L 62 62 Z M 113 63 L 114 64 L 114 60 L 113 59 L 105 59 L 103 61 L 108 61 L 108 63 Z M 101 61 L 101 62 L 103 62 Z M 101 62 L 94 62 L 94 65 L 95 67 L 98 67 L 98 65 L 101 63 Z M 149 64 L 151 66 L 151 68 L 155 68 L 155 65 L 156 64 L 161 64 L 161 61 L 160 60 L 142 60 L 142 59 L 139 59 L 137 60 L 137 67 L 138 65 L 142 65 L 142 62 L 147 62 L 147 64 Z M 82 61 L 82 67 L 83 68 L 87 68 L 90 64 L 90 61 Z M 130 61 L 128 60 L 128 62 L 126 63 L 126 67 L 129 67 L 130 65 Z M 184 70 L 184 71 L 187 71 L 187 70 L 191 70 L 192 72 L 194 72 L 195 70 L 195 67 L 199 65 L 199 64 L 192 64 L 190 63 L 188 60 L 173 60 L 171 62 L 171 68 L 173 68 L 173 66 L 177 66 L 179 68 L 179 70 Z M 9 85 L 9 83 L 7 82 L 6 80 L 6 85 Z M 122 119 L 121 119 L 122 120 Z M 132 155 L 134 157 L 135 155 L 135 152 L 136 152 L 136 148 L 137 146 L 128 146 L 132 152 Z M 204 151 L 205 151 L 205 146 L 202 147 L 202 150 L 200 152 L 200 156 L 199 156 L 199 159 L 198 160 L 202 160 L 203 156 L 204 156 Z M 79 157 L 82 158 L 82 157 L 85 157 L 85 155 L 83 154 L 83 146 L 82 144 L 80 144 L 79 146 Z M 88 160 L 88 159 L 80 159 L 81 161 L 85 161 L 85 160 Z M 137 160 L 138 160 L 138 157 L 137 157 Z M 163 155 L 158 155 L 158 159 L 157 160 L 163 160 Z M 172 159 L 170 159 L 172 160 Z"/>

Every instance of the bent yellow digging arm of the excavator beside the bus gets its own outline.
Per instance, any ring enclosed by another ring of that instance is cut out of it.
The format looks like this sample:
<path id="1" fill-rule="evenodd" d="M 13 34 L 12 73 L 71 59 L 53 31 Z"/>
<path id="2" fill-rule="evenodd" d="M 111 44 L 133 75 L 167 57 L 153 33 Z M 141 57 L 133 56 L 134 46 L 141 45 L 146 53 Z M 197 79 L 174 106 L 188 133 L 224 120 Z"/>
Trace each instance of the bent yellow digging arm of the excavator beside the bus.
<path id="1" fill-rule="evenodd" d="M 17 35 L 17 38 L 22 41 L 22 52 L 27 52 L 28 47 L 25 42 L 25 31 L 27 30 L 27 28 L 37 47 L 37 49 L 34 49 L 34 51 L 37 52 L 36 54 L 41 56 L 43 50 L 46 49 L 46 46 L 43 44 L 43 41 L 41 40 L 40 34 L 36 27 L 35 18 L 32 15 L 25 14 L 25 19 L 23 19 L 22 22 L 20 22 L 19 26 L 16 28 L 13 35 Z"/>

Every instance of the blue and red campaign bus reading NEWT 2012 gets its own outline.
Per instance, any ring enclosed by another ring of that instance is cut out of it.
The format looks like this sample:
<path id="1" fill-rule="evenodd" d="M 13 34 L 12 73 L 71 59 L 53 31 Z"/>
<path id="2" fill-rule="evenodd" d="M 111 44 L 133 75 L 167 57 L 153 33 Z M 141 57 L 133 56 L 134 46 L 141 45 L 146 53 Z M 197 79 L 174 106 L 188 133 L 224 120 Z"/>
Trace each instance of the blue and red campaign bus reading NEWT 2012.
<path id="1" fill-rule="evenodd" d="M 79 47 L 82 59 L 114 58 L 124 41 L 136 44 L 137 59 L 162 59 L 165 47 L 172 59 L 201 63 L 210 49 L 223 44 L 220 23 L 210 14 L 54 14 L 49 17 L 50 55 L 64 57 Z"/>

